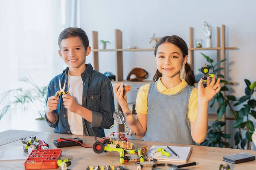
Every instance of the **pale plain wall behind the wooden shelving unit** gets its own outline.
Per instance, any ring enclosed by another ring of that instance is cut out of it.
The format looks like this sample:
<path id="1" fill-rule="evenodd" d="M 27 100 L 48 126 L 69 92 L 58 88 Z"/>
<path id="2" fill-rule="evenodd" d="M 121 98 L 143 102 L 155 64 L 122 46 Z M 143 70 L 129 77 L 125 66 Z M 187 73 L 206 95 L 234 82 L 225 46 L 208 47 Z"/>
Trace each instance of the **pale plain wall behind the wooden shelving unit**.
<path id="1" fill-rule="evenodd" d="M 241 97 L 246 87 L 244 79 L 256 81 L 255 45 L 256 22 L 254 0 L 87 0 L 81 1 L 81 28 L 92 42 L 92 31 L 98 31 L 99 40 L 109 40 L 109 49 L 115 47 L 114 29 L 122 31 L 123 48 L 128 45 L 137 48 L 151 48 L 149 38 L 178 35 L 189 45 L 189 27 L 194 28 L 194 39 L 203 39 L 204 21 L 212 26 L 213 46 L 216 46 L 216 27 L 226 26 L 226 45 L 239 50 L 227 51 L 228 76 L 230 81 L 238 82 L 232 86 L 230 95 Z M 253 17 L 254 16 L 254 17 Z M 203 42 L 203 46 L 205 41 Z M 215 59 L 216 51 L 201 51 Z M 99 71 L 112 71 L 116 74 L 114 52 L 99 53 Z M 195 68 L 201 68 L 204 58 L 195 53 Z M 92 55 L 87 57 L 92 63 Z M 156 71 L 154 54 L 151 52 L 124 52 L 124 77 L 134 67 L 144 68 L 152 79 Z M 198 73 L 195 69 L 195 74 Z M 136 86 L 136 85 L 134 85 Z M 137 85 L 139 86 L 139 85 Z M 137 92 L 131 92 L 128 102 L 134 102 Z M 228 133 L 234 134 L 233 121 L 228 121 Z M 230 143 L 233 142 L 230 140 Z"/>

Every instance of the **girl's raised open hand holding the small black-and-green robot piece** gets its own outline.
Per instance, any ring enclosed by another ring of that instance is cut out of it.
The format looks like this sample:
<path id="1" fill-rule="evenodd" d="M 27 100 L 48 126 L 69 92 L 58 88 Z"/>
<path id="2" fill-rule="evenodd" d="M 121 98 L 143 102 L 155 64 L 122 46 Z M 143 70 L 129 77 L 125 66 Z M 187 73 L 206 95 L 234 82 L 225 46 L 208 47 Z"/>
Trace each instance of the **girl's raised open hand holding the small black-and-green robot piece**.
<path id="1" fill-rule="evenodd" d="M 221 90 L 221 85 L 220 81 L 221 79 L 218 78 L 216 84 L 216 75 L 212 78 L 212 82 L 210 82 L 210 77 L 207 78 L 207 87 L 203 87 L 203 79 L 198 82 L 198 103 L 199 104 L 204 104 L 208 103 L 212 97 L 214 97 L 220 90 Z"/>

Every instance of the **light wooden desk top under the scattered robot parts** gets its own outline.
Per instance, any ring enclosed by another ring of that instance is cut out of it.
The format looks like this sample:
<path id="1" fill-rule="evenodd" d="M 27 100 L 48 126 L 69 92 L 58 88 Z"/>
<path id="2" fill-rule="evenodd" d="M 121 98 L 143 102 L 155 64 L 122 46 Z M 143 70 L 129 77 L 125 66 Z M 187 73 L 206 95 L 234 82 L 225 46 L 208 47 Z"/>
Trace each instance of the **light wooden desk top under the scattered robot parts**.
<path id="1" fill-rule="evenodd" d="M 83 139 L 84 144 L 92 146 L 95 142 L 93 136 L 77 136 L 77 135 L 66 135 L 59 133 L 47 133 L 47 132 L 32 132 L 24 130 L 8 130 L 0 133 L 0 153 L 3 152 L 6 147 L 14 146 L 24 146 L 20 138 L 36 136 L 37 139 L 43 139 L 49 144 L 50 149 L 56 149 L 53 144 L 54 139 L 58 138 L 71 138 L 79 137 Z M 147 145 L 150 148 L 153 145 L 166 145 L 166 146 L 189 146 L 181 144 L 167 144 L 160 142 L 144 142 L 131 140 L 134 143 L 136 148 Z M 197 162 L 198 165 L 188 167 L 191 170 L 218 170 L 220 164 L 226 164 L 227 162 L 222 161 L 223 156 L 234 154 L 234 153 L 250 153 L 256 155 L 256 151 L 252 150 L 237 150 L 237 149 L 227 149 L 227 148 L 218 148 L 218 147 L 201 147 L 201 146 L 192 146 L 193 151 L 190 156 L 189 162 Z M 23 150 L 20 150 L 23 152 Z M 119 164 L 119 153 L 117 152 L 107 152 L 97 154 L 93 152 L 91 148 L 84 148 L 80 146 L 76 147 L 65 147 L 62 148 L 62 156 L 72 155 L 72 164 L 68 167 L 71 170 L 85 170 L 87 166 L 92 165 L 109 165 L 108 160 L 112 164 Z M 25 160 L 15 160 L 15 161 L 0 161 L 0 170 L 24 170 L 23 163 Z M 169 162 L 170 163 L 170 162 Z M 173 164 L 181 164 L 173 162 Z M 136 170 L 136 165 L 134 162 L 128 164 L 122 164 L 123 167 L 128 168 L 129 170 Z M 241 164 L 230 164 L 231 170 L 255 170 L 256 161 L 245 162 Z M 58 168 L 61 169 L 61 168 Z M 143 167 L 143 170 L 150 170 L 151 167 Z"/>

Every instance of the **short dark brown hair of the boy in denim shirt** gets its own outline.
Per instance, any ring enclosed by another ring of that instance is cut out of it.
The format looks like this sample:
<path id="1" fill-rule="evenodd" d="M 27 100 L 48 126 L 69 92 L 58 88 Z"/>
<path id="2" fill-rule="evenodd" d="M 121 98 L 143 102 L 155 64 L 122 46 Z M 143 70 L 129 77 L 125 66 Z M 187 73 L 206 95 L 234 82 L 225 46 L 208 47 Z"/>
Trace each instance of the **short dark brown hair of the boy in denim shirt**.
<path id="1" fill-rule="evenodd" d="M 85 50 L 89 46 L 89 40 L 85 31 L 77 27 L 65 28 L 58 37 L 58 45 L 61 49 L 61 41 L 69 37 L 79 37 L 84 44 Z"/>

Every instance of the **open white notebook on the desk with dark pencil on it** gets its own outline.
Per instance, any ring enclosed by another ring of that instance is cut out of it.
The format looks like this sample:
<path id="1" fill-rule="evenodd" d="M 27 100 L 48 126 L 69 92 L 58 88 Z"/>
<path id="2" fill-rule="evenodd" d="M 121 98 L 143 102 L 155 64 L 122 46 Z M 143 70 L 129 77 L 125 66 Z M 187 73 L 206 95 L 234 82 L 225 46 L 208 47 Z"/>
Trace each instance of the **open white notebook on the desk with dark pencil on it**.
<path id="1" fill-rule="evenodd" d="M 191 147 L 180 147 L 180 146 L 169 146 L 180 158 L 178 158 L 177 156 L 175 156 L 175 154 L 173 154 L 171 152 L 171 150 L 169 150 L 167 148 L 167 146 L 157 146 L 154 145 L 150 148 L 150 150 L 148 150 L 148 156 L 150 156 L 153 159 L 157 159 L 157 161 L 175 161 L 175 162 L 187 162 L 189 160 L 189 157 L 192 153 L 192 148 Z M 153 154 L 154 150 L 157 150 L 158 148 L 163 148 L 166 152 L 170 153 L 170 156 L 167 157 L 165 155 L 162 156 L 155 156 L 156 154 Z"/>

